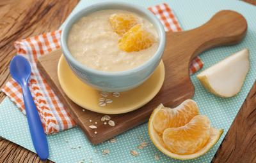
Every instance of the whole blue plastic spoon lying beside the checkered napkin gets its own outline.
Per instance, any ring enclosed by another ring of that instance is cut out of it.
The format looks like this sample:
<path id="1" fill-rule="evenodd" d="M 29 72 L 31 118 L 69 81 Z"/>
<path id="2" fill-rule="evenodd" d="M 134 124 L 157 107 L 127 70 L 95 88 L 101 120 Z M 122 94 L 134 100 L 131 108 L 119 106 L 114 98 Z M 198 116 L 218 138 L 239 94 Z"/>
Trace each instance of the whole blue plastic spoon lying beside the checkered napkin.
<path id="1" fill-rule="evenodd" d="M 42 122 L 28 87 L 31 74 L 31 67 L 28 60 L 20 55 L 13 57 L 10 63 L 10 73 L 13 79 L 22 87 L 23 100 L 33 145 L 40 159 L 45 160 L 49 157 L 48 143 Z"/>

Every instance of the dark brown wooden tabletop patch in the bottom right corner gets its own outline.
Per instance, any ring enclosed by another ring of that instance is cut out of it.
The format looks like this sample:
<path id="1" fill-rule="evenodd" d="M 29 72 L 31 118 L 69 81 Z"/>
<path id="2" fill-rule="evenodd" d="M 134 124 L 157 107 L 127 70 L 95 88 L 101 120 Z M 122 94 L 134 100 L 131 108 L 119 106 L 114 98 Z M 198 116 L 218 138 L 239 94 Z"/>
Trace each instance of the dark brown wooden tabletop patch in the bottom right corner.
<path id="1" fill-rule="evenodd" d="M 256 162 L 256 82 L 212 162 Z"/>

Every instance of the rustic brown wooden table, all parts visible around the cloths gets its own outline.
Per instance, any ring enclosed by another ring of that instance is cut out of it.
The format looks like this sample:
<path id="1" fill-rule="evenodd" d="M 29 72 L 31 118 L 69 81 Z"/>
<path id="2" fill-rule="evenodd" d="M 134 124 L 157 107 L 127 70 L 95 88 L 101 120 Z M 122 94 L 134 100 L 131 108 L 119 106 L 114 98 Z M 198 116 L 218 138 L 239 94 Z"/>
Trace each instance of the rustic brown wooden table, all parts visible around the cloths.
<path id="1" fill-rule="evenodd" d="M 13 41 L 58 29 L 79 0 L 0 1 L 0 87 L 10 77 Z M 246 0 L 256 5 L 255 0 Z M 0 92 L 0 102 L 5 95 Z M 256 162 L 256 82 L 212 162 Z M 43 162 L 35 153 L 0 138 L 0 162 Z M 45 162 L 51 162 L 49 160 Z"/>

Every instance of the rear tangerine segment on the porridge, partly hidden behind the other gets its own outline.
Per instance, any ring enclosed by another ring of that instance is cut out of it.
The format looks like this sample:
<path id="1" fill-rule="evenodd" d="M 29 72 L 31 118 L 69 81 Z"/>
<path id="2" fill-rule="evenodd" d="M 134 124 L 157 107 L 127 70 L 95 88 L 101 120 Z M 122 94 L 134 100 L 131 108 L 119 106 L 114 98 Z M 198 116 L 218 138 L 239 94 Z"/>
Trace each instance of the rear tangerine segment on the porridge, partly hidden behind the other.
<path id="1" fill-rule="evenodd" d="M 117 34 L 122 36 L 131 27 L 138 24 L 140 21 L 138 17 L 135 17 L 129 13 L 115 13 L 109 17 L 109 23 Z"/>

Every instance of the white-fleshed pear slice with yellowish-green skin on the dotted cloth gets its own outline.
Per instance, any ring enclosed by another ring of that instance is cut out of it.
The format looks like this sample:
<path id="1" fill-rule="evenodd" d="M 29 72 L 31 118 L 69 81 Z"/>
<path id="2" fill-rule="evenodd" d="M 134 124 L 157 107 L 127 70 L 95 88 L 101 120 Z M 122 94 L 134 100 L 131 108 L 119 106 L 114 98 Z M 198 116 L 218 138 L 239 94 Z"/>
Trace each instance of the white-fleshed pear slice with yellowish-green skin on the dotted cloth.
<path id="1" fill-rule="evenodd" d="M 249 69 L 249 51 L 245 48 L 205 69 L 196 77 L 212 94 L 232 97 L 240 92 Z"/>

